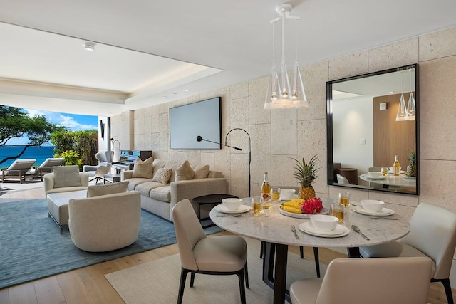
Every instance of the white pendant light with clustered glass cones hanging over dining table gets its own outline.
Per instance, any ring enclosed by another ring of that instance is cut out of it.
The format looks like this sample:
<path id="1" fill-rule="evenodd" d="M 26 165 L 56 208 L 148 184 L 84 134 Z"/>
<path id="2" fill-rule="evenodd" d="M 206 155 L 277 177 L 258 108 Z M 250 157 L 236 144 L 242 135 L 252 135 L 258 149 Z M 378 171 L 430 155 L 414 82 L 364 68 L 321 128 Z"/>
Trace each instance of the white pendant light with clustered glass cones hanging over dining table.
<path id="1" fill-rule="evenodd" d="M 308 107 L 304 84 L 301 77 L 301 71 L 298 64 L 298 34 L 297 20 L 298 16 L 290 16 L 290 11 L 293 8 L 291 4 L 281 4 L 276 7 L 276 12 L 280 15 L 278 18 L 271 20 L 272 23 L 272 68 L 269 80 L 268 90 L 266 92 L 266 100 L 264 102 L 265 109 L 277 108 L 301 108 Z M 293 68 L 293 83 L 290 88 L 288 69 L 285 61 L 285 19 L 295 20 L 295 63 Z M 276 70 L 276 38 L 275 38 L 275 23 L 281 21 L 281 63 L 280 73 Z"/>

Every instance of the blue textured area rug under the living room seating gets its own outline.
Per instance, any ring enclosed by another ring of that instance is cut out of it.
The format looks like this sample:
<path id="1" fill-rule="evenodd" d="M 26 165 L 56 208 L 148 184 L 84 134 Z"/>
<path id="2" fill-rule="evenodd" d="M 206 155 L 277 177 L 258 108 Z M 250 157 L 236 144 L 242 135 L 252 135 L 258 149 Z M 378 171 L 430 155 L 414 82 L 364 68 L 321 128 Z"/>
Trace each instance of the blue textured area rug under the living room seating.
<path id="1" fill-rule="evenodd" d="M 115 251 L 82 251 L 73 245 L 68 229 L 59 231 L 48 217 L 46 199 L 0 204 L 0 288 L 176 243 L 173 224 L 144 210 L 138 241 Z"/>

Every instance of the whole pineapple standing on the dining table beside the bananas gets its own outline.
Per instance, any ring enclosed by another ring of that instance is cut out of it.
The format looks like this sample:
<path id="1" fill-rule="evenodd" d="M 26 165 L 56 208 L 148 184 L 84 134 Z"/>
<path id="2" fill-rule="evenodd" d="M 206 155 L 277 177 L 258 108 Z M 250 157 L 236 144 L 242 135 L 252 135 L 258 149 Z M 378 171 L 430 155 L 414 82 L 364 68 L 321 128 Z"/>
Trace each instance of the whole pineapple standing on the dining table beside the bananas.
<path id="1" fill-rule="evenodd" d="M 300 199 L 311 199 L 315 197 L 315 189 L 312 187 L 312 183 L 315 182 L 316 172 L 318 168 L 315 167 L 315 163 L 318 157 L 314 155 L 309 162 L 302 159 L 302 163 L 298 159 L 294 159 L 298 164 L 294 169 L 294 177 L 299 180 L 299 198 Z"/>

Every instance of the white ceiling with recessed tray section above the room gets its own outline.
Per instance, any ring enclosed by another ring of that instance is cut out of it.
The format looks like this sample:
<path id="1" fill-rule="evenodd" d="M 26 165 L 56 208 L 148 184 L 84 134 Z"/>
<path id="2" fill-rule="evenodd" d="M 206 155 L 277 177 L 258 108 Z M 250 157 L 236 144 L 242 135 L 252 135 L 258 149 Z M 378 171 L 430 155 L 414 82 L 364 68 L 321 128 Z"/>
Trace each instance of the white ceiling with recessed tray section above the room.
<path id="1" fill-rule="evenodd" d="M 0 0 L 0 104 L 111 116 L 263 77 L 281 3 Z M 302 66 L 456 26 L 454 0 L 287 3 Z"/>

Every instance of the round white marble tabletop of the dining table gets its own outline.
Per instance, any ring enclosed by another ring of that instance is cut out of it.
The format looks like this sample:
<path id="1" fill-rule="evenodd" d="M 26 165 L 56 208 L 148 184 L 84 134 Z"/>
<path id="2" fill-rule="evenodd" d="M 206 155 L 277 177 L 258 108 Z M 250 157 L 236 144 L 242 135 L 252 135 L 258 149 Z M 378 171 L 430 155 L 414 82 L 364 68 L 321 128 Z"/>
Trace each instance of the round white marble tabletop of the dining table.
<path id="1" fill-rule="evenodd" d="M 355 201 L 352 203 L 357 204 Z M 328 199 L 323 200 L 323 206 L 328 207 L 328 204 Z M 371 219 L 371 216 L 358 214 L 350 209 L 349 219 L 343 224 L 350 229 L 348 235 L 337 238 L 311 236 L 298 229 L 299 224 L 310 221 L 310 219 L 296 219 L 284 216 L 279 213 L 279 206 L 280 204 L 273 204 L 271 209 L 264 210 L 264 214 L 259 216 L 254 215 L 252 211 L 248 211 L 238 217 L 212 209 L 210 218 L 214 224 L 234 234 L 270 243 L 294 246 L 329 248 L 371 246 L 395 241 L 410 231 L 408 221 L 398 214 L 389 216 L 398 218 L 397 220 L 384 219 L 382 216 L 379 216 L 378 219 Z M 353 231 L 351 229 L 352 224 L 357 225 L 370 240 L 364 239 L 363 236 Z M 291 232 L 291 225 L 296 226 L 296 233 L 299 239 L 296 239 Z"/>

